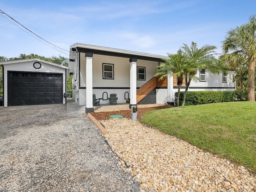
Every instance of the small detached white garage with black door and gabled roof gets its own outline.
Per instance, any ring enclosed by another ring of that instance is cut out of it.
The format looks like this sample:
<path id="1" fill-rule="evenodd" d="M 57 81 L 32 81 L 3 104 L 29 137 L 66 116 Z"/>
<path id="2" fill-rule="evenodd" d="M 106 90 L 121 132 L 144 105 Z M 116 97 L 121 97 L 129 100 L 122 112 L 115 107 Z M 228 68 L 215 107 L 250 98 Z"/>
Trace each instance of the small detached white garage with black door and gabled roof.
<path id="1" fill-rule="evenodd" d="M 65 104 L 69 68 L 40 59 L 0 63 L 3 106 Z"/>

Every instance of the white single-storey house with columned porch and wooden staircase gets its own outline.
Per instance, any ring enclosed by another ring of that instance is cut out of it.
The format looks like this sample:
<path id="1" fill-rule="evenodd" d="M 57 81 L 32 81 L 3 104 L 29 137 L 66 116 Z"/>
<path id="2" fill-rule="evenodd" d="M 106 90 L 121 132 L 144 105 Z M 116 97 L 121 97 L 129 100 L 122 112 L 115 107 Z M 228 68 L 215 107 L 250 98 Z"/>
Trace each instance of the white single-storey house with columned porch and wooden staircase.
<path id="1" fill-rule="evenodd" d="M 76 43 L 70 46 L 70 72 L 73 74 L 73 100 L 93 112 L 92 94 L 108 104 L 110 94 L 118 103 L 137 104 L 174 102 L 178 90 L 176 77 L 158 81 L 154 75 L 165 56 Z M 190 91 L 235 90 L 234 72 L 211 74 L 198 70 L 199 82 L 191 82 Z M 185 85 L 185 84 L 184 84 Z M 182 86 L 182 88 L 185 88 Z"/>

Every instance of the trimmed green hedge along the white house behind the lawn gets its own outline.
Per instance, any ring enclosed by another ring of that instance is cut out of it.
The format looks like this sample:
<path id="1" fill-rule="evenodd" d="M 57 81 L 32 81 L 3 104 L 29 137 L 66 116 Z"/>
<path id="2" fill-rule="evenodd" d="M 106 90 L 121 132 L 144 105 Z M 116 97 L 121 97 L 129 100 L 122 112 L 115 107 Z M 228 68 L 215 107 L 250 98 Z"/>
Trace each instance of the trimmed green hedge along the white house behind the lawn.
<path id="1" fill-rule="evenodd" d="M 175 93 L 175 104 L 177 103 Z M 180 92 L 180 105 L 182 105 L 184 91 Z M 200 105 L 207 103 L 220 103 L 234 101 L 234 91 L 188 91 L 186 94 L 185 105 Z"/>

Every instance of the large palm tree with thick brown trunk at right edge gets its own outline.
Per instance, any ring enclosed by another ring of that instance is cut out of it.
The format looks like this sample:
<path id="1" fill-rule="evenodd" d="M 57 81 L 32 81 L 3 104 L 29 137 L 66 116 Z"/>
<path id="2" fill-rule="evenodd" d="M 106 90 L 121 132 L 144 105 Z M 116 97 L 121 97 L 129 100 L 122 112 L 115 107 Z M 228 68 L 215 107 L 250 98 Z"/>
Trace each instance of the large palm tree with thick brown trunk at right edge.
<path id="1" fill-rule="evenodd" d="M 248 62 L 248 100 L 255 101 L 254 69 L 256 60 L 256 16 L 252 15 L 249 22 L 227 32 L 222 42 L 224 54 L 232 52 L 233 56 L 242 54 Z"/>

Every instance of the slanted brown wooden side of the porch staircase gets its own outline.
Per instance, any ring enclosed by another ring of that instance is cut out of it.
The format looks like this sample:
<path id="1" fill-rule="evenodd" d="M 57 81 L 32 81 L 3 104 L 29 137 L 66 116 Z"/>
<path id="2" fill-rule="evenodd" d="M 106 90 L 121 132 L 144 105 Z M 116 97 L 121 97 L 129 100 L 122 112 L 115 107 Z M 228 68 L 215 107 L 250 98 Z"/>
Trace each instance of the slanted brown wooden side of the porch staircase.
<path id="1" fill-rule="evenodd" d="M 156 77 L 152 77 L 148 82 L 146 82 L 144 85 L 142 85 L 137 90 L 137 100 L 136 102 L 140 102 L 144 97 L 147 96 L 154 88 L 157 86 L 157 79 Z"/>

